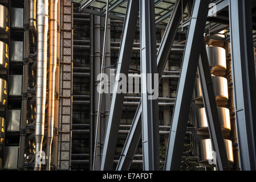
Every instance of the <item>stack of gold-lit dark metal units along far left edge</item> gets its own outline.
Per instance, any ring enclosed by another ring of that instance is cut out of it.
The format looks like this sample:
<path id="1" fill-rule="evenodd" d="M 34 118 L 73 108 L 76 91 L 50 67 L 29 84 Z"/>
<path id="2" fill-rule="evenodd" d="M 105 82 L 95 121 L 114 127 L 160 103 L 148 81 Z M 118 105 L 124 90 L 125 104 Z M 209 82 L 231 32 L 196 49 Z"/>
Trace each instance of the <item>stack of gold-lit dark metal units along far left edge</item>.
<path id="1" fill-rule="evenodd" d="M 3 167 L 3 150 L 5 150 L 7 80 L 10 44 L 10 10 L 9 4 L 0 1 L 0 168 Z"/>

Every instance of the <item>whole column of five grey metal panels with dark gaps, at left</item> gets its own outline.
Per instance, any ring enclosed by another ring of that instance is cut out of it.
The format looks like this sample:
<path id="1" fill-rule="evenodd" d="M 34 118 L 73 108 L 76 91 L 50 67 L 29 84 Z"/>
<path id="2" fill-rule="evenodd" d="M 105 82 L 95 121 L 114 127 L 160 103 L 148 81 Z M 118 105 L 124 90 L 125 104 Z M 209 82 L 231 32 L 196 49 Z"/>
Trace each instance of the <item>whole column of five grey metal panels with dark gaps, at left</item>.
<path id="1" fill-rule="evenodd" d="M 22 75 L 24 61 L 24 1 L 11 2 L 10 65 L 8 70 L 8 107 L 3 167 L 18 168 L 21 125 Z"/>

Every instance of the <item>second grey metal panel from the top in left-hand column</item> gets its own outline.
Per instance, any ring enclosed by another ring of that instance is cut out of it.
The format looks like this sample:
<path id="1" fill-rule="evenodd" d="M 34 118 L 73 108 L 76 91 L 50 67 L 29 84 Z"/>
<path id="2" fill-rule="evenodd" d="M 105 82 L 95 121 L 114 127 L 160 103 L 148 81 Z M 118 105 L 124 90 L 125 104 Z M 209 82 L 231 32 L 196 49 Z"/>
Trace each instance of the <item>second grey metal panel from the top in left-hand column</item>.
<path id="1" fill-rule="evenodd" d="M 11 42 L 11 61 L 23 61 L 23 42 Z"/>

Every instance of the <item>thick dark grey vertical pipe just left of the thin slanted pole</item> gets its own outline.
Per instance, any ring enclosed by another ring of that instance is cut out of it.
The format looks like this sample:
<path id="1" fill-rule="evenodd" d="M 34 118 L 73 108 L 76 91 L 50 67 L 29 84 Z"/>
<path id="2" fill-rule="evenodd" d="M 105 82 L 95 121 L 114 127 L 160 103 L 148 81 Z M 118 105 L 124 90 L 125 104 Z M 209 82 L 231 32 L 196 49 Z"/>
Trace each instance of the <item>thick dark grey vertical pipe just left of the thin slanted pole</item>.
<path id="1" fill-rule="evenodd" d="M 97 11 L 97 10 L 96 10 Z M 99 85 L 99 80 L 97 80 L 97 75 L 100 74 L 100 16 L 94 16 L 94 90 L 97 90 L 97 85 Z M 99 99 L 99 92 L 94 92 L 94 115 L 97 115 L 97 107 L 98 107 L 98 99 Z M 97 117 L 94 117 L 94 126 L 97 123 Z M 94 128 L 94 134 L 96 134 L 96 128 Z M 96 138 L 96 135 L 94 135 Z M 94 138 L 94 139 L 95 139 Z M 100 143 L 96 143 L 98 150 L 100 151 Z M 96 154 L 98 155 L 98 154 Z M 99 160 L 97 161 L 97 165 Z"/>

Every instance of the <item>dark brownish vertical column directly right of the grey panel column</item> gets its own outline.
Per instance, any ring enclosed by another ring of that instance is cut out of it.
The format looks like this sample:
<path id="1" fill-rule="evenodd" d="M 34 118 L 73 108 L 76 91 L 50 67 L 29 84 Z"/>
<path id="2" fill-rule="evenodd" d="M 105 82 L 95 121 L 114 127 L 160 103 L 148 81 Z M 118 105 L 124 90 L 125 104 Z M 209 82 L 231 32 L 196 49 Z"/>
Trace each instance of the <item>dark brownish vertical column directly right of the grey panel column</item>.
<path id="1" fill-rule="evenodd" d="M 25 1 L 25 24 L 29 23 L 29 0 Z M 24 57 L 29 57 L 29 30 L 25 30 L 24 39 Z M 19 170 L 23 169 L 24 166 L 24 154 L 25 154 L 25 143 L 26 143 L 26 126 L 27 126 L 27 89 L 29 88 L 29 63 L 24 62 L 23 65 L 23 86 L 22 86 L 22 113 L 21 113 L 21 139 L 19 143 Z"/>

